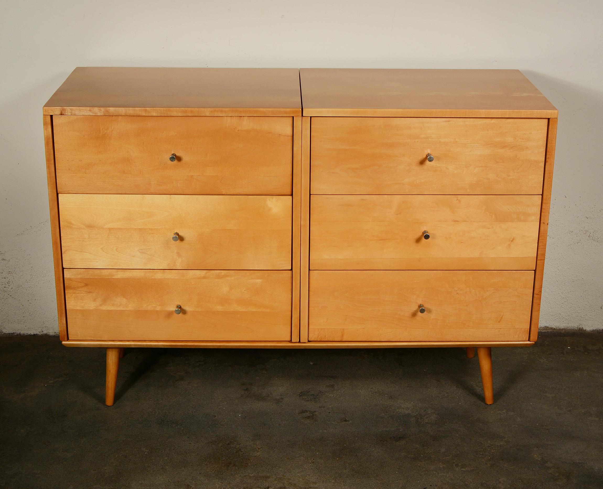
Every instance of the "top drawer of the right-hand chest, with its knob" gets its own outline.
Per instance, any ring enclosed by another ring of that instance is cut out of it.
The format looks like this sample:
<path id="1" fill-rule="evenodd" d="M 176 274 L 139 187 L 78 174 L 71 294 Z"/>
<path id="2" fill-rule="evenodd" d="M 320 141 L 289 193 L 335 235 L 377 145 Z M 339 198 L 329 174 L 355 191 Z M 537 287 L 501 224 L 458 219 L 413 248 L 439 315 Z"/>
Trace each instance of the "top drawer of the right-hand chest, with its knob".
<path id="1" fill-rule="evenodd" d="M 547 124 L 547 119 L 312 118 L 311 192 L 541 194 Z"/>

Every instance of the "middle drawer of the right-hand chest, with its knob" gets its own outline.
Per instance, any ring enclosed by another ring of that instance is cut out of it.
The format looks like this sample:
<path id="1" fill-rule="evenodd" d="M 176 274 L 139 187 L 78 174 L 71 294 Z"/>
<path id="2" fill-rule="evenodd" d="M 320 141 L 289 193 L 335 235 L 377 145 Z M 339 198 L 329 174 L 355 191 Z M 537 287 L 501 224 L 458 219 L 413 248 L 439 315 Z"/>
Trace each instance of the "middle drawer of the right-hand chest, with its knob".
<path id="1" fill-rule="evenodd" d="M 310 268 L 534 270 L 540 200 L 540 195 L 312 195 Z"/>

